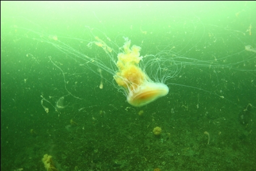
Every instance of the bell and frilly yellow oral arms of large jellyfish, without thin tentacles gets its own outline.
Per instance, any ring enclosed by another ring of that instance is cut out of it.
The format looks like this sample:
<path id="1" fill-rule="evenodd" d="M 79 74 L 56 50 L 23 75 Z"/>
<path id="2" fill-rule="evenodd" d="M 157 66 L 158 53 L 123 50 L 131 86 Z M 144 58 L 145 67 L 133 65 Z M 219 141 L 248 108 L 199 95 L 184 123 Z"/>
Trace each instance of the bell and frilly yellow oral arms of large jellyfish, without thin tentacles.
<path id="1" fill-rule="evenodd" d="M 118 72 L 114 75 L 117 84 L 127 90 L 127 101 L 135 107 L 140 107 L 163 97 L 169 92 L 164 83 L 153 82 L 139 67 L 140 47 L 133 45 L 126 39 L 124 53 L 119 53 L 117 58 Z"/>

